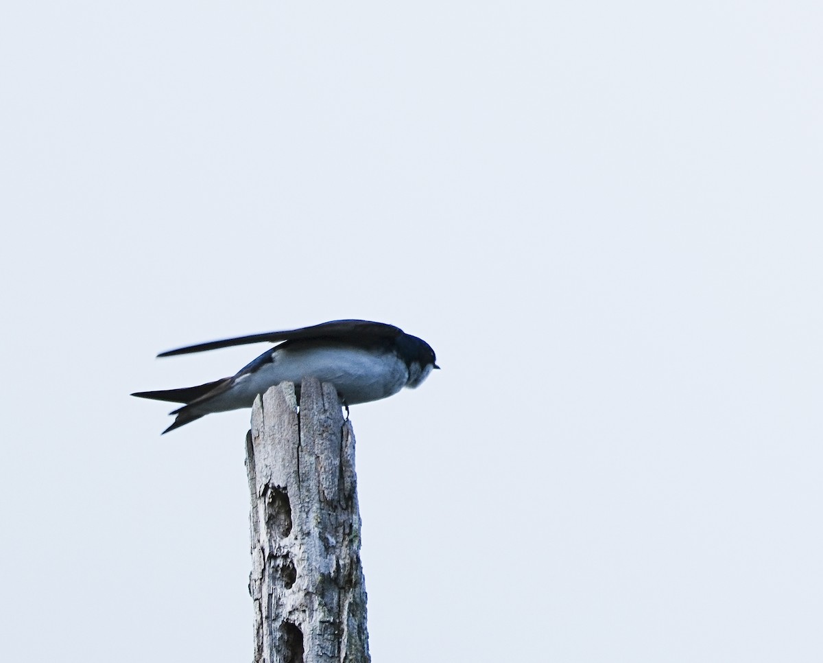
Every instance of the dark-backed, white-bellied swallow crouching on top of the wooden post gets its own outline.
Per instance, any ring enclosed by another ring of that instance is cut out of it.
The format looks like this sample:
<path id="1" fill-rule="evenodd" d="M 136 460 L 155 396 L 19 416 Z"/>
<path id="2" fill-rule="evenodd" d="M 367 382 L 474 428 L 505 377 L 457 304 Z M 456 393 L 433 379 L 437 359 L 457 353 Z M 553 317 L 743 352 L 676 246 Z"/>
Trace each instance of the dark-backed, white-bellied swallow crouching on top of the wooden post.
<path id="1" fill-rule="evenodd" d="M 349 405 L 397 394 L 403 387 L 415 389 L 432 369 L 439 369 L 435 351 L 423 339 L 392 324 L 371 320 L 330 320 L 300 329 L 188 345 L 157 357 L 262 342 L 279 344 L 234 376 L 183 389 L 136 391 L 132 395 L 184 404 L 170 412 L 176 416 L 165 434 L 207 414 L 250 408 L 258 394 L 285 381 L 295 383 L 298 398 L 305 377 L 330 382 L 347 410 Z"/>

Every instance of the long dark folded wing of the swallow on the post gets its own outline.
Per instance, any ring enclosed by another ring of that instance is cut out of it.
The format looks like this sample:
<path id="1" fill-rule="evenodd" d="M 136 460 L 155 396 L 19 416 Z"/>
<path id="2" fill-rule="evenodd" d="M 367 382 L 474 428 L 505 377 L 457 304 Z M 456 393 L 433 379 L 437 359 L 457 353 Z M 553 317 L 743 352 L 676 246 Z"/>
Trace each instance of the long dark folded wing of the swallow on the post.
<path id="1" fill-rule="evenodd" d="M 402 329 L 398 329 L 398 327 L 392 324 L 384 324 L 382 322 L 370 322 L 370 320 L 332 320 L 331 322 L 314 324 L 311 327 L 301 327 L 300 329 L 251 334 L 249 336 L 238 336 L 235 339 L 223 339 L 221 341 L 199 343 L 198 345 L 188 345 L 185 348 L 167 350 L 165 353 L 160 353 L 157 356 L 172 357 L 178 354 L 202 353 L 206 350 L 216 350 L 217 348 L 230 348 L 233 345 L 248 345 L 249 343 L 263 342 L 279 343 L 280 341 L 297 339 L 348 339 L 365 337 L 395 339 L 402 333 Z"/>

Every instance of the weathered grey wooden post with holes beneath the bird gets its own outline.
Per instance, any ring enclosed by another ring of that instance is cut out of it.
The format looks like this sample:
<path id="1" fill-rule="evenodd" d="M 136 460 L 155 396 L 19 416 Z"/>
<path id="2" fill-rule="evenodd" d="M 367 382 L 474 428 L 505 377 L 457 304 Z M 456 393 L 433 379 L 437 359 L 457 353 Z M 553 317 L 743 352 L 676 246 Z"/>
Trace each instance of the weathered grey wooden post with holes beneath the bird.
<path id="1" fill-rule="evenodd" d="M 355 436 L 332 385 L 306 379 L 254 401 L 254 663 L 369 663 Z"/>

